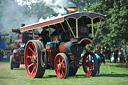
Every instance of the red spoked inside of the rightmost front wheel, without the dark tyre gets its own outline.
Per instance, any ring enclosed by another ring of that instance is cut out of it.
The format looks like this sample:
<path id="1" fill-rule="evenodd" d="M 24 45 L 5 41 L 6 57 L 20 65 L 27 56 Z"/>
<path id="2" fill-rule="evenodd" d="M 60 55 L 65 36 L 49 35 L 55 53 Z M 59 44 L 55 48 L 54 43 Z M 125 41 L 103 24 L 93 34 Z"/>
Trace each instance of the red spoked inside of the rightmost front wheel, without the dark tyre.
<path id="1" fill-rule="evenodd" d="M 91 76 L 94 70 L 94 63 L 92 62 L 92 58 L 91 58 L 91 61 L 89 61 L 89 55 L 90 55 L 89 53 L 84 55 L 83 61 L 82 61 L 84 63 L 83 70 L 87 76 Z"/>

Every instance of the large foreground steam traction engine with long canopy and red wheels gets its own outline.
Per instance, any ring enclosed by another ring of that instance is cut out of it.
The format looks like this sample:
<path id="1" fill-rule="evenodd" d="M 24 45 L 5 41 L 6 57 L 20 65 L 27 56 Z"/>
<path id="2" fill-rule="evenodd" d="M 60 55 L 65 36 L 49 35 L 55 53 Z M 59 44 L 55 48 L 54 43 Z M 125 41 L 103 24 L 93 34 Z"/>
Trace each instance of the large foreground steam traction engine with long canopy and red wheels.
<path id="1" fill-rule="evenodd" d="M 37 40 L 33 38 L 26 44 L 24 58 L 28 76 L 42 77 L 45 69 L 54 68 L 57 77 L 63 79 L 75 75 L 80 66 L 87 76 L 95 76 L 98 63 L 94 53 L 81 54 L 84 47 L 92 43 L 88 35 L 93 32 L 93 23 L 101 20 L 105 20 L 105 16 L 97 13 L 71 13 L 22 27 L 22 33 L 37 28 L 48 30 L 46 39 L 46 36 Z"/>

